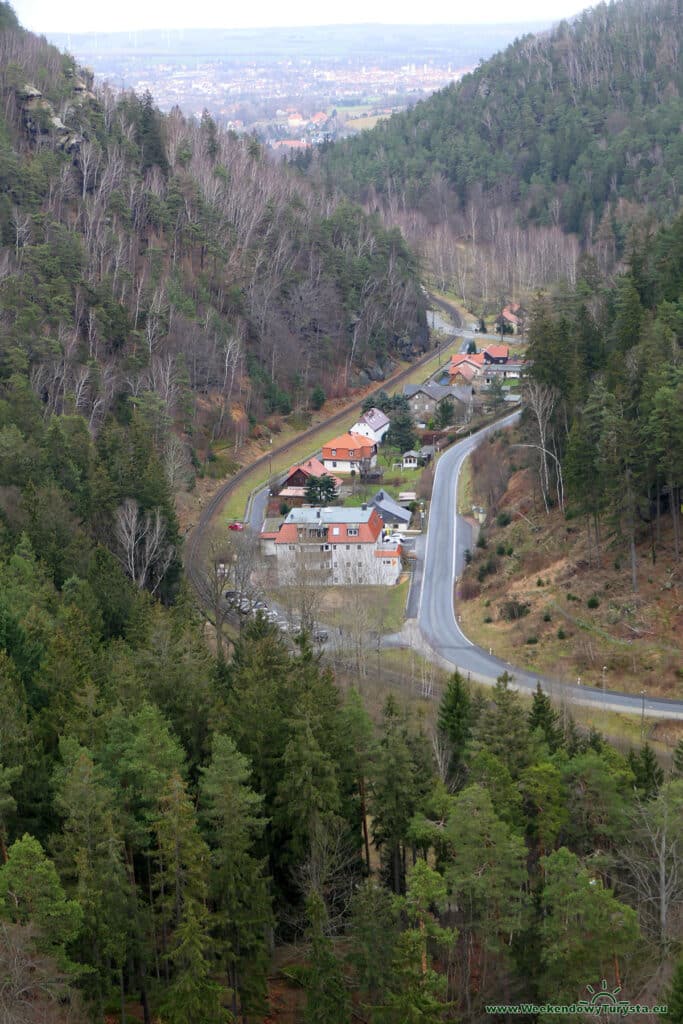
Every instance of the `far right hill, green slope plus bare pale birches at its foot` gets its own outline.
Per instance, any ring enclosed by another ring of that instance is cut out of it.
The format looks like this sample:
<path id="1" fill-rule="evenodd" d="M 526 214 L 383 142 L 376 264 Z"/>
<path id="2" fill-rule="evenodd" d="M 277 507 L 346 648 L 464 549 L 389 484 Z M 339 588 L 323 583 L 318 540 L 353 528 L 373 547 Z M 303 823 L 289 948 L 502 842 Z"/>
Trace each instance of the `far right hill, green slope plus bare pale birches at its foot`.
<path id="1" fill-rule="evenodd" d="M 680 209 L 682 26 L 680 0 L 600 4 L 309 173 L 379 209 L 477 314 L 573 283 L 581 251 L 611 273 L 634 233 Z"/>

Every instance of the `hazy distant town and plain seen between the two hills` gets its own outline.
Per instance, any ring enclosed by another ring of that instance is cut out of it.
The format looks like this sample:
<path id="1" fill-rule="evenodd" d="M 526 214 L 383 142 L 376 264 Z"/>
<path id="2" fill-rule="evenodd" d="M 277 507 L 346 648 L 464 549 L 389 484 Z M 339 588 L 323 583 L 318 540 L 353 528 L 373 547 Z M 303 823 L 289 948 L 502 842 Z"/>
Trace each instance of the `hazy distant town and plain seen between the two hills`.
<path id="1" fill-rule="evenodd" d="M 273 151 L 367 128 L 457 81 L 539 26 L 338 26 L 52 35 L 115 89 L 213 117 Z"/>

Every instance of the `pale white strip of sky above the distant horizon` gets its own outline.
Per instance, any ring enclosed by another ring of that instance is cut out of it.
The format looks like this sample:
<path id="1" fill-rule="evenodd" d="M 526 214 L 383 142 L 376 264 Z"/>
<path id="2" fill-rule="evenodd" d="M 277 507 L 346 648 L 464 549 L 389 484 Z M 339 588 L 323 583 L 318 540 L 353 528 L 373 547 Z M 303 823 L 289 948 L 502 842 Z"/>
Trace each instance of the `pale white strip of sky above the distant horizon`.
<path id="1" fill-rule="evenodd" d="M 236 29 L 296 25 L 465 25 L 555 20 L 579 13 L 590 0 L 11 0 L 34 32 L 119 32 L 132 29 Z"/>

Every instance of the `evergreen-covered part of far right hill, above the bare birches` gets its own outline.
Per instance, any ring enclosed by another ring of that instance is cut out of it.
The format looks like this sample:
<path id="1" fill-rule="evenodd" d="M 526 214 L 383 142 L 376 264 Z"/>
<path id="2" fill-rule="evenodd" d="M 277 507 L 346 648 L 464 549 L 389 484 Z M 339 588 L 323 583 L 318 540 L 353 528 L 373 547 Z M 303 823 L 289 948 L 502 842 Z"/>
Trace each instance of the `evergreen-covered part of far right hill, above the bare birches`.
<path id="1" fill-rule="evenodd" d="M 515 204 L 587 240 L 633 207 L 665 219 L 682 185 L 682 36 L 680 0 L 600 4 L 332 146 L 326 168 L 350 195 L 402 196 L 434 219 Z"/>

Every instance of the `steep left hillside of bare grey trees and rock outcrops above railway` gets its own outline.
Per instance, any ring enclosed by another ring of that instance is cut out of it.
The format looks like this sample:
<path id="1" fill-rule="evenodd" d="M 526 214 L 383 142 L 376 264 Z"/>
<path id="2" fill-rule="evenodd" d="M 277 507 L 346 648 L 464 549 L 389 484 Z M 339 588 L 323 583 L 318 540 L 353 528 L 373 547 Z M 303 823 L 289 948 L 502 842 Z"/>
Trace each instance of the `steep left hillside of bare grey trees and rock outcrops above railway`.
<path id="1" fill-rule="evenodd" d="M 1 12 L 2 372 L 46 411 L 97 431 L 135 404 L 189 453 L 424 345 L 397 231 L 208 116 L 94 94 Z"/>

